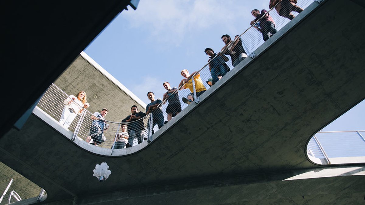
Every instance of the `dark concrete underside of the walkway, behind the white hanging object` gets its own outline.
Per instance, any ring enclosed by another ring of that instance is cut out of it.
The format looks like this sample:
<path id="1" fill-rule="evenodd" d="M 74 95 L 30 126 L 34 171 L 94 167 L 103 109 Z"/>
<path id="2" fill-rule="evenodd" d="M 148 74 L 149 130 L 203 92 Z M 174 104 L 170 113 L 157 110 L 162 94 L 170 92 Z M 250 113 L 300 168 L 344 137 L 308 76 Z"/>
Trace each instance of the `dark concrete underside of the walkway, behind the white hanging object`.
<path id="1" fill-rule="evenodd" d="M 365 23 L 354 21 L 364 7 L 346 0 L 314 7 L 139 152 L 95 155 L 32 115 L 0 139 L 1 161 L 46 189 L 52 204 L 363 202 L 364 174 L 283 181 L 324 170 L 308 161 L 307 141 L 365 97 Z M 101 162 L 112 170 L 103 183 L 92 176 Z"/>

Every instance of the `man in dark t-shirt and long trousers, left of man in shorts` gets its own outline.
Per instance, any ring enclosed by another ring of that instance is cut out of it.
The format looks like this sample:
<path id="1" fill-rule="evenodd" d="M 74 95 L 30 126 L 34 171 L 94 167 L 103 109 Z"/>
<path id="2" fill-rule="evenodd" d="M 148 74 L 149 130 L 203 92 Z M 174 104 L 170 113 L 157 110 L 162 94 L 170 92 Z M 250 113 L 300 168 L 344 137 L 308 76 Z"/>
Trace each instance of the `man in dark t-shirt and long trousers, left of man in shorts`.
<path id="1" fill-rule="evenodd" d="M 155 100 L 155 94 L 153 92 L 147 93 L 148 99 L 151 101 L 150 104 L 146 106 L 146 115 L 152 113 L 152 135 L 154 134 L 153 127 L 157 124 L 158 129 L 164 126 L 164 114 L 162 113 L 161 107 L 158 107 L 162 103 L 161 98 Z M 149 128 L 150 119 L 148 120 L 147 127 Z M 144 139 L 147 140 L 147 139 Z"/>

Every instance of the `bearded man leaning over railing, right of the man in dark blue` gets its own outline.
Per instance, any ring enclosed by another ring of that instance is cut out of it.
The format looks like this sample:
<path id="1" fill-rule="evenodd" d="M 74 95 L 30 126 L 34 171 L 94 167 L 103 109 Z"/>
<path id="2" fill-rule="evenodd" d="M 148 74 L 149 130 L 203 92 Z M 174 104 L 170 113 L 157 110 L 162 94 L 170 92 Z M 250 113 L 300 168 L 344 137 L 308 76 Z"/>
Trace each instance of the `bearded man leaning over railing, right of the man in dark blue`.
<path id="1" fill-rule="evenodd" d="M 230 55 L 233 67 L 237 66 L 243 59 L 247 57 L 247 54 L 242 46 L 242 40 L 239 35 L 235 36 L 234 40 L 231 40 L 231 36 L 225 34 L 222 36 L 222 40 L 225 44 L 220 51 L 224 51 L 224 55 Z"/>

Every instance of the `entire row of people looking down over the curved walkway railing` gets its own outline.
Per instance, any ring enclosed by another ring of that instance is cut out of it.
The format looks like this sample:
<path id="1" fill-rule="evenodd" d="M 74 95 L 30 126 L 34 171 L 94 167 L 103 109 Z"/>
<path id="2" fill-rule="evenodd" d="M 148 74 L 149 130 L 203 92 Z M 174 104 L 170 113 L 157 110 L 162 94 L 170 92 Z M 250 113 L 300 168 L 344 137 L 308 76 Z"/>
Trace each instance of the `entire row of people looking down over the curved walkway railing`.
<path id="1" fill-rule="evenodd" d="M 303 11 L 300 7 L 296 5 L 296 0 L 270 0 L 269 8 L 275 7 L 277 13 L 280 16 L 283 16 L 288 19 L 293 19 L 295 16 L 291 13 L 292 11 L 300 13 Z M 268 11 L 262 9 L 261 12 L 258 9 L 253 9 L 251 14 L 255 17 L 254 20 L 250 22 L 251 26 L 256 28 L 258 31 L 262 33 L 262 38 L 264 41 L 268 40 L 270 36 L 274 35 L 277 31 L 275 28 L 275 22 L 273 18 L 269 15 Z M 208 58 L 208 66 L 211 74 L 211 78 L 208 79 L 207 84 L 209 86 L 213 86 L 218 80 L 222 79 L 228 71 L 230 71 L 230 67 L 227 65 L 229 55 L 231 57 L 232 66 L 237 66 L 240 62 L 243 61 L 247 57 L 247 54 L 242 46 L 242 40 L 239 35 L 236 35 L 234 39 L 228 34 L 222 35 L 221 37 L 224 46 L 217 54 L 211 48 L 206 48 L 204 53 L 209 56 Z M 186 97 L 182 97 L 182 101 L 186 104 L 191 104 L 195 100 L 193 82 L 195 84 L 196 97 L 199 97 L 203 94 L 207 89 L 205 88 L 203 81 L 200 78 L 200 73 L 195 71 L 193 73 L 189 73 L 187 69 L 181 70 L 181 76 L 184 78 L 180 81 L 178 85 L 179 90 L 189 89 L 191 93 L 187 94 Z M 142 119 L 146 115 L 151 113 L 151 117 L 148 121 L 148 129 L 152 129 L 151 132 L 154 134 L 154 126 L 157 125 L 160 129 L 164 124 L 168 123 L 172 119 L 172 117 L 178 115 L 181 112 L 181 104 L 178 95 L 178 88 L 171 87 L 169 82 L 164 82 L 162 84 L 164 88 L 167 90 L 163 95 L 163 99 L 157 98 L 155 99 L 155 95 L 153 92 L 148 92 L 147 97 L 151 101 L 146 106 L 146 111 L 138 111 L 137 105 L 133 105 L 131 107 L 131 115 L 128 115 L 125 119 L 122 120 L 121 132 L 116 135 L 114 148 L 124 148 L 124 147 L 132 147 L 134 143 L 134 139 L 137 138 L 137 143 L 140 144 L 143 140 L 147 140 L 147 138 L 142 139 L 143 132 L 145 130 L 145 125 Z M 166 108 L 167 120 L 165 120 L 161 104 L 165 104 L 166 100 L 168 101 L 168 106 Z M 64 101 L 65 107 L 62 110 L 61 118 L 59 123 L 61 123 L 65 128 L 68 128 L 72 121 L 75 119 L 77 114 L 81 114 L 85 108 L 89 107 L 87 103 L 87 96 L 84 91 L 80 91 L 76 94 L 76 96 L 69 96 Z M 99 144 L 105 142 L 105 137 L 103 135 L 104 131 L 109 128 L 109 125 L 105 121 L 105 116 L 108 114 L 108 109 L 103 108 L 100 112 L 95 112 L 91 119 L 93 120 L 92 125 L 90 127 L 89 136 L 87 137 L 86 142 L 89 144 L 93 144 L 98 146 Z M 151 123 L 150 123 L 150 120 Z"/>

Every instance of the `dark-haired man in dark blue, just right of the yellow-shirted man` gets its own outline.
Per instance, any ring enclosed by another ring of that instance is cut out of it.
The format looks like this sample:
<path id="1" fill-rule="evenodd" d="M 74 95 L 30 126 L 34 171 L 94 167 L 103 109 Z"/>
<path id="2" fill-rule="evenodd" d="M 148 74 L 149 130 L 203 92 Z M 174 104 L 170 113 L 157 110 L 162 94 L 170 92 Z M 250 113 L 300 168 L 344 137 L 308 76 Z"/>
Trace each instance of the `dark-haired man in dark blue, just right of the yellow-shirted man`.
<path id="1" fill-rule="evenodd" d="M 231 69 L 227 66 L 226 62 L 229 60 L 228 57 L 221 53 L 214 53 L 213 49 L 206 48 L 204 53 L 209 55 L 208 65 L 209 71 L 212 75 L 211 81 L 207 81 L 209 86 L 214 85 L 220 78 L 225 76 Z"/>

